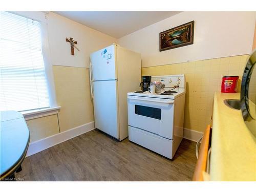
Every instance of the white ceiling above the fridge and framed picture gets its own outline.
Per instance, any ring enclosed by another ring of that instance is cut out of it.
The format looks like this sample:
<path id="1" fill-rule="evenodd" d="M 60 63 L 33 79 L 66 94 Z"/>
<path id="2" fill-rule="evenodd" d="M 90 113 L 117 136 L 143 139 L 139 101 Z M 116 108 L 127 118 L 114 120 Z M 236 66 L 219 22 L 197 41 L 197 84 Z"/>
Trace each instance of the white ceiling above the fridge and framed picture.
<path id="1" fill-rule="evenodd" d="M 53 11 L 115 38 L 123 37 L 180 11 Z"/>

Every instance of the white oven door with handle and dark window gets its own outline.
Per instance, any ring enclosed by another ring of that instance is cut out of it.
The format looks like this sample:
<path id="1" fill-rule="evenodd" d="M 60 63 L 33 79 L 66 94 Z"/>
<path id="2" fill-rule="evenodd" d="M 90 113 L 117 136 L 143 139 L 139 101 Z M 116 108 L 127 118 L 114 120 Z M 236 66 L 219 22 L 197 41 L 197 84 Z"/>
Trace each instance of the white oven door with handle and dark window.
<path id="1" fill-rule="evenodd" d="M 173 139 L 174 99 L 127 96 L 128 124 Z"/>

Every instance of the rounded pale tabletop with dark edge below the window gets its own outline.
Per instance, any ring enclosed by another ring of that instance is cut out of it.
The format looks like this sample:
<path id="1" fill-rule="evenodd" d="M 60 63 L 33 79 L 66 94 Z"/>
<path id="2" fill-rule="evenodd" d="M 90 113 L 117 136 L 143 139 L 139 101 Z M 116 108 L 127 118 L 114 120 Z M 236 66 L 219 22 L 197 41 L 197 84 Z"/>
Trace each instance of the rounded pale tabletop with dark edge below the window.
<path id="1" fill-rule="evenodd" d="M 2 111 L 0 121 L 0 179 L 4 179 L 12 175 L 24 160 L 30 134 L 19 112 Z"/>

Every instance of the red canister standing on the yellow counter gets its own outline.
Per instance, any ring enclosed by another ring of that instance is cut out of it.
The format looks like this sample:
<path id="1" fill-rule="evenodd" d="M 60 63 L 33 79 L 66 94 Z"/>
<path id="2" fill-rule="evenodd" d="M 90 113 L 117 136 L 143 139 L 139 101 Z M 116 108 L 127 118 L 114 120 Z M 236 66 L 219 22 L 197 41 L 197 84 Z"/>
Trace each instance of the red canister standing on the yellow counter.
<path id="1" fill-rule="evenodd" d="M 237 93 L 237 90 L 238 90 L 238 76 L 222 77 L 222 83 L 221 83 L 222 93 Z"/>

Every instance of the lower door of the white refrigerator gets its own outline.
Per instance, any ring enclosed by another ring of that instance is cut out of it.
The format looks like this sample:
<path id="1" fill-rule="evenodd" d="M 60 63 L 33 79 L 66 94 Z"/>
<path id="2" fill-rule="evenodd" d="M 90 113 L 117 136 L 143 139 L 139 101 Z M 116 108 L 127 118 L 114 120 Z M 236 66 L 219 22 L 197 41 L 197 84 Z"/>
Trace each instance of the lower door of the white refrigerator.
<path id="1" fill-rule="evenodd" d="M 93 81 L 95 128 L 119 139 L 117 81 Z"/>

